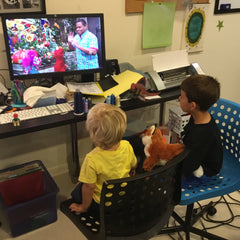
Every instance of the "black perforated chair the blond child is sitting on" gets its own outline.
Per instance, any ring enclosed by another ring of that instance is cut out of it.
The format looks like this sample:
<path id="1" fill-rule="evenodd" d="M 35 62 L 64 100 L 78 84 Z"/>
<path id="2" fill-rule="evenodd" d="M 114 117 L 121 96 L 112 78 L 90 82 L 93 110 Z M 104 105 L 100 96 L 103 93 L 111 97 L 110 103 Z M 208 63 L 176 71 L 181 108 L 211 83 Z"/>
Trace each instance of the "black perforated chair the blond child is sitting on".
<path id="1" fill-rule="evenodd" d="M 61 211 L 87 239 L 149 239 L 161 230 L 181 197 L 181 162 L 187 150 L 164 167 L 103 184 L 100 219 L 76 215 L 68 199 Z"/>

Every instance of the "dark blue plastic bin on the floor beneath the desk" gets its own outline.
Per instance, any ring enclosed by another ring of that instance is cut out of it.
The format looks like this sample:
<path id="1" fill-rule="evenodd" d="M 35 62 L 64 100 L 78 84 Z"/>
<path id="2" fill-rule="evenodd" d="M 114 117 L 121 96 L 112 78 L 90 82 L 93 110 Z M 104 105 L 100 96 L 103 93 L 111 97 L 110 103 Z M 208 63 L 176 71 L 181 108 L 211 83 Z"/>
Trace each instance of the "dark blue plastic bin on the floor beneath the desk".
<path id="1" fill-rule="evenodd" d="M 19 169 L 33 163 L 39 164 L 43 171 L 42 180 L 44 186 L 44 193 L 41 196 L 26 202 L 6 206 L 0 194 L 0 202 L 2 204 L 2 209 L 8 220 L 11 235 L 13 237 L 43 227 L 57 220 L 56 195 L 59 192 L 59 188 L 41 161 L 36 160 L 22 165 L 7 168 L 1 170 L 0 174 Z"/>

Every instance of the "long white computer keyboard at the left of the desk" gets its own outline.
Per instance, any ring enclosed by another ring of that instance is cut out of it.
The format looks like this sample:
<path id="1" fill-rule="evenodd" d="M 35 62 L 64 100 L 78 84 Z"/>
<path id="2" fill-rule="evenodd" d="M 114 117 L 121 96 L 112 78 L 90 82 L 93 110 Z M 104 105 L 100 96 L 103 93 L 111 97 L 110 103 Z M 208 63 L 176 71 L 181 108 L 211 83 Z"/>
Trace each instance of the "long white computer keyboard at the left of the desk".
<path id="1" fill-rule="evenodd" d="M 13 114 L 17 113 L 20 121 L 27 119 L 34 119 L 55 114 L 63 114 L 73 111 L 73 107 L 69 103 L 60 103 L 56 105 L 37 107 L 31 109 L 20 110 L 16 112 L 0 114 L 0 124 L 11 123 Z"/>

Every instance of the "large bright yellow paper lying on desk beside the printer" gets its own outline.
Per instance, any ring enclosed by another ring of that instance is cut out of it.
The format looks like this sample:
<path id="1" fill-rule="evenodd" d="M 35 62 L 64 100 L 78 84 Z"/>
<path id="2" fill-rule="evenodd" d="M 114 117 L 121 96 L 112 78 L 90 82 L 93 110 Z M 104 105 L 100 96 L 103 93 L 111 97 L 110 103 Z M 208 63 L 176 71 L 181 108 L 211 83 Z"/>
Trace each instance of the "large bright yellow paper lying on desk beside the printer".
<path id="1" fill-rule="evenodd" d="M 116 76 L 113 76 L 113 79 L 118 83 L 118 85 L 105 91 L 104 97 L 106 98 L 108 95 L 112 94 L 119 96 L 130 89 L 132 83 L 137 83 L 142 77 L 143 76 L 140 73 L 130 70 L 126 70 Z"/>

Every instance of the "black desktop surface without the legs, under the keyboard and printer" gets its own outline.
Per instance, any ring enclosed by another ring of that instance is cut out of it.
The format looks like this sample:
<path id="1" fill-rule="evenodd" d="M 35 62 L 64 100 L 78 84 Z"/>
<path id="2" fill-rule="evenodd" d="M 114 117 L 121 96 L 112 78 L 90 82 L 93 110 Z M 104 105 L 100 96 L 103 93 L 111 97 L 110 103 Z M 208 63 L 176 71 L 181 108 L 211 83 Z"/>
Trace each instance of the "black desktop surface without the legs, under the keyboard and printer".
<path id="1" fill-rule="evenodd" d="M 121 108 L 124 111 L 129 111 L 141 107 L 146 107 L 154 104 L 164 103 L 178 98 L 180 89 L 172 89 L 163 91 L 159 99 L 141 101 L 139 99 L 132 99 L 121 102 Z M 77 123 L 86 120 L 86 114 L 82 116 L 75 116 L 73 112 L 64 115 L 51 115 L 42 118 L 35 118 L 25 120 L 20 123 L 20 127 L 14 127 L 11 123 L 0 125 L 0 139 L 13 137 L 30 132 L 40 131 L 44 129 L 59 127 L 67 124 Z"/>

